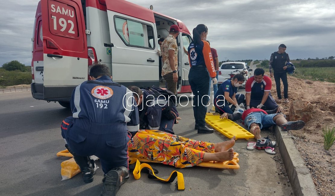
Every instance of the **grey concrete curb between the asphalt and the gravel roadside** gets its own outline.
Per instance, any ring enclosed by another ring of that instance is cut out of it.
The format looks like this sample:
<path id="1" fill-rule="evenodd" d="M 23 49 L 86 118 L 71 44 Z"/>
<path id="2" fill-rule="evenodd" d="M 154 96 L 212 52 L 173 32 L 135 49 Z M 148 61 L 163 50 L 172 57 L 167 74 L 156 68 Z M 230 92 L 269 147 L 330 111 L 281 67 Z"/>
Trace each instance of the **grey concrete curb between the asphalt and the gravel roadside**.
<path id="1" fill-rule="evenodd" d="M 287 131 L 281 131 L 280 126 L 276 126 L 275 135 L 294 195 L 318 196 L 310 170 L 295 148 L 292 136 Z"/>

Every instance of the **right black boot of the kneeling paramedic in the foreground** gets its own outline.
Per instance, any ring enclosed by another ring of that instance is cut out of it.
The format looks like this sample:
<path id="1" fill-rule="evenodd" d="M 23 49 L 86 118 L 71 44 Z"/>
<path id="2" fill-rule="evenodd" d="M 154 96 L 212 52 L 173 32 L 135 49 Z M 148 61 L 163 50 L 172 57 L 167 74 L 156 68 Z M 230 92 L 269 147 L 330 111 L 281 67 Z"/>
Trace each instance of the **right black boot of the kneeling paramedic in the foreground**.
<path id="1" fill-rule="evenodd" d="M 109 171 L 103 179 L 103 191 L 100 196 L 115 196 L 129 175 L 129 170 L 123 166 Z"/>

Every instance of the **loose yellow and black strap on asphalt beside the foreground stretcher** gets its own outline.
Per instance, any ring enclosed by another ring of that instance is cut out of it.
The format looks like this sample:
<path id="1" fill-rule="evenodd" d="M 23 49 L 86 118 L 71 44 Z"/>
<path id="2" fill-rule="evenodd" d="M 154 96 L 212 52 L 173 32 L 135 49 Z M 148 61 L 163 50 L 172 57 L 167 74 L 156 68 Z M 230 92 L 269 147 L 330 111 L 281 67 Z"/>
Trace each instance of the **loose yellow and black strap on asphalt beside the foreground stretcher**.
<path id="1" fill-rule="evenodd" d="M 133 175 L 134 175 L 134 178 L 135 178 L 136 180 L 138 180 L 138 179 L 141 178 L 141 170 L 142 170 L 143 168 L 148 168 L 148 169 L 150 169 L 151 172 L 152 172 L 151 174 L 149 174 L 149 176 L 148 176 L 149 178 L 151 178 L 151 179 L 157 179 L 157 180 L 159 180 L 159 181 L 161 181 L 161 182 L 165 182 L 165 183 L 171 183 L 171 182 L 173 182 L 173 181 L 176 179 L 176 177 L 177 177 L 178 190 L 185 190 L 184 176 L 183 176 L 182 173 L 177 172 L 177 171 L 175 170 L 175 171 L 173 171 L 173 172 L 170 174 L 169 178 L 167 178 L 167 179 L 162 179 L 162 178 L 157 177 L 157 176 L 154 174 L 154 170 L 153 170 L 152 167 L 151 167 L 149 164 L 147 164 L 147 163 L 142 163 L 142 164 L 141 164 L 136 158 L 133 158 L 129 164 L 134 164 L 135 162 L 136 162 L 136 164 L 135 164 L 135 169 L 134 169 L 134 171 L 133 171 Z"/>

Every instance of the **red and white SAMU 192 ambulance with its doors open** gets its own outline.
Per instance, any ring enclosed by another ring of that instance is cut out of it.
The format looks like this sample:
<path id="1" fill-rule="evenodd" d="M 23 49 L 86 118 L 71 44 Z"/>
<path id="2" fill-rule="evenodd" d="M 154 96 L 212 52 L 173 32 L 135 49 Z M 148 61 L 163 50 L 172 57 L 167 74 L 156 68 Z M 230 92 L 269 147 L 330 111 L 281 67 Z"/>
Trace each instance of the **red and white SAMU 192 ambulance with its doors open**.
<path id="1" fill-rule="evenodd" d="M 41 0 L 32 40 L 31 94 L 69 107 L 73 89 L 88 79 L 94 62 L 106 64 L 124 86 L 159 86 L 158 38 L 177 24 L 178 92 L 191 92 L 191 42 L 185 24 L 124 0 Z"/>

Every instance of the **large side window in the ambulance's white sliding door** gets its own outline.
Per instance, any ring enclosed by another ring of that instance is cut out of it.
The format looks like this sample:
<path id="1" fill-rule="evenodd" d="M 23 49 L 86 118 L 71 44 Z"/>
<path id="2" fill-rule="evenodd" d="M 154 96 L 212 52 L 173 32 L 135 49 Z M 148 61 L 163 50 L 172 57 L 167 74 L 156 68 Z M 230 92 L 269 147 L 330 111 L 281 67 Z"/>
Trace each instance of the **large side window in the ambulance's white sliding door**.
<path id="1" fill-rule="evenodd" d="M 152 27 L 147 24 L 115 17 L 118 35 L 126 45 L 134 47 L 154 48 L 149 39 L 153 35 Z"/>

